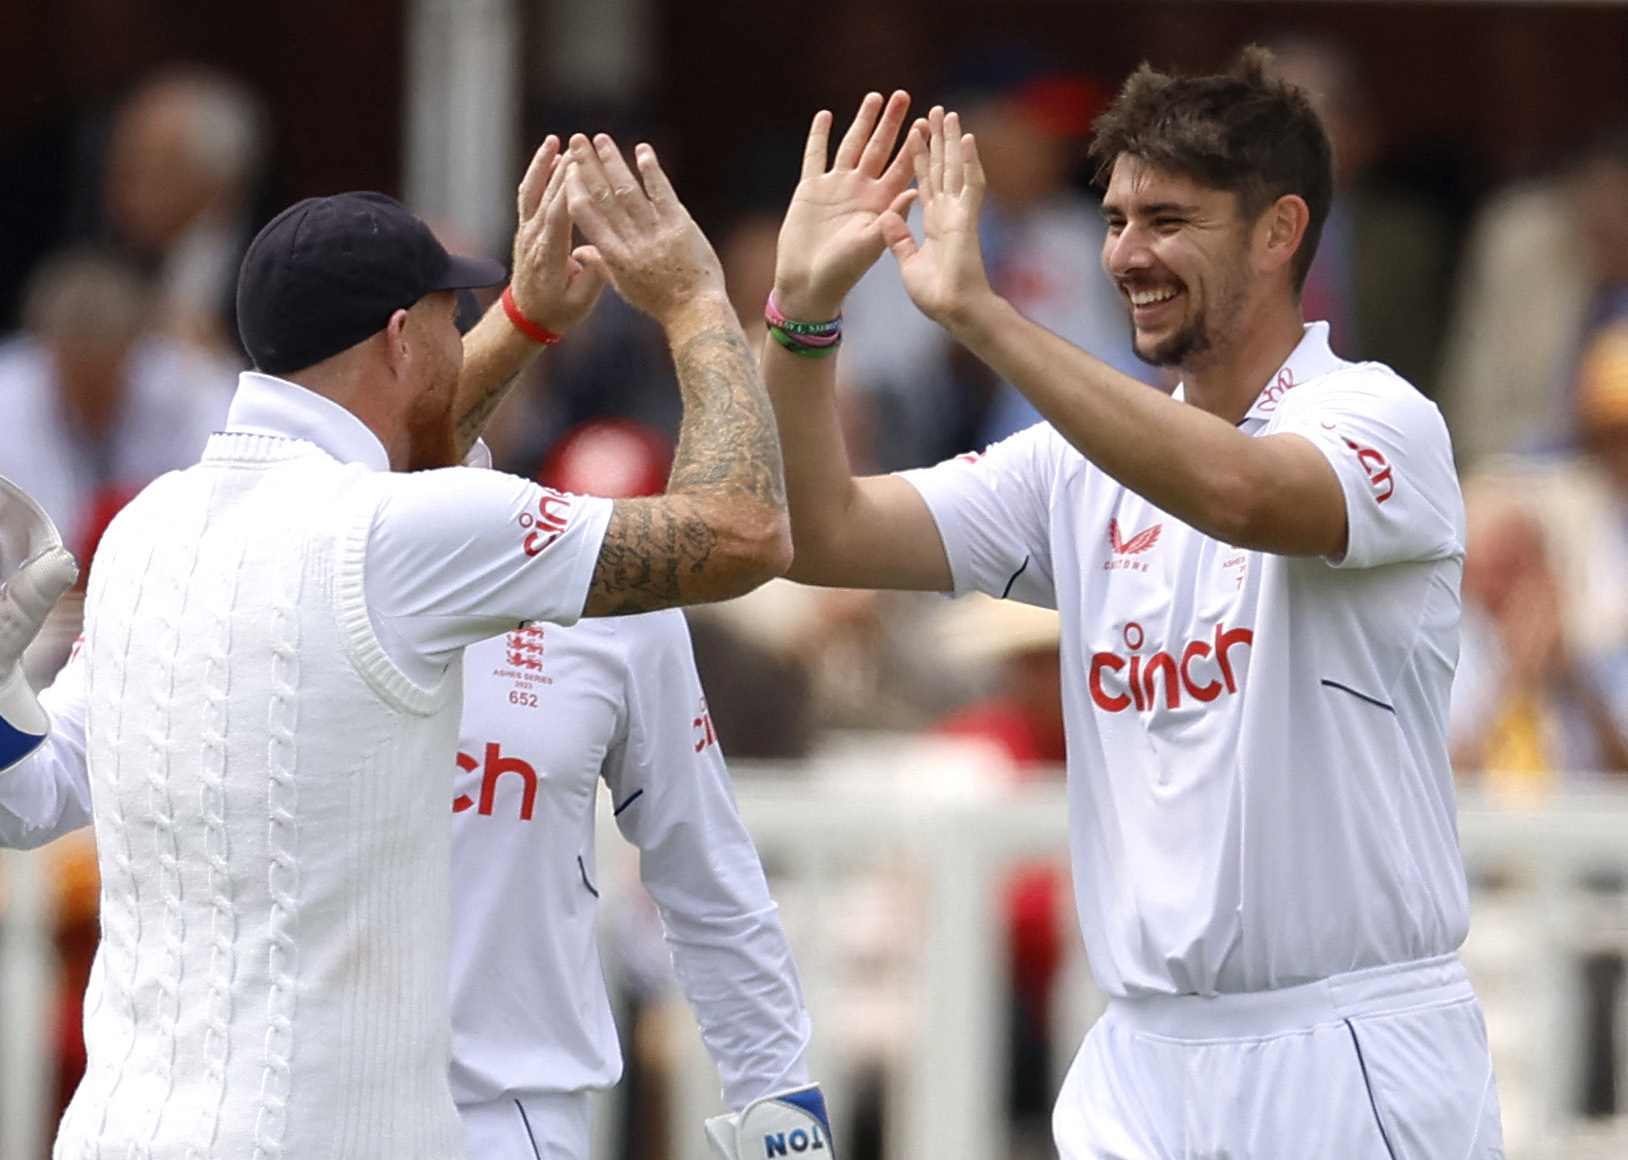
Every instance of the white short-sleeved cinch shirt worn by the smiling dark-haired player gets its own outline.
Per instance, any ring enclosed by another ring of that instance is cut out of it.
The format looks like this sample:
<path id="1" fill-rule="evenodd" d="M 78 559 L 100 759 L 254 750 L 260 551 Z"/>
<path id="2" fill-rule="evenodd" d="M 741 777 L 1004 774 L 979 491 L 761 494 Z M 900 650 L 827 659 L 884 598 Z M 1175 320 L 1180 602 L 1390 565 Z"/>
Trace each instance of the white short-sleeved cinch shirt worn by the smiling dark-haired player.
<path id="1" fill-rule="evenodd" d="M 1241 430 L 1328 459 L 1341 560 L 1213 540 L 1050 425 L 904 473 L 957 592 L 1061 613 L 1074 895 L 1112 996 L 1410 962 L 1454 950 L 1468 924 L 1447 763 L 1464 509 L 1446 425 L 1389 368 L 1335 356 L 1315 322 Z"/>

